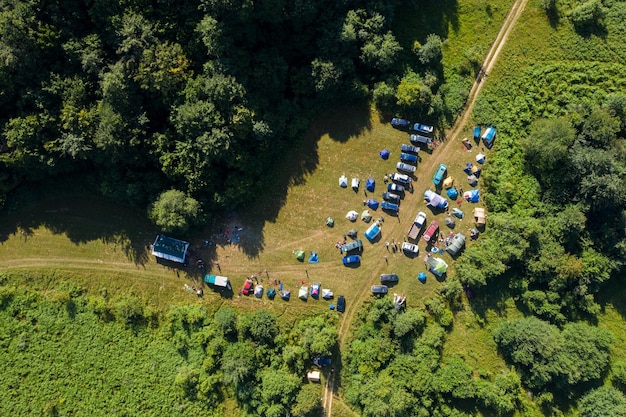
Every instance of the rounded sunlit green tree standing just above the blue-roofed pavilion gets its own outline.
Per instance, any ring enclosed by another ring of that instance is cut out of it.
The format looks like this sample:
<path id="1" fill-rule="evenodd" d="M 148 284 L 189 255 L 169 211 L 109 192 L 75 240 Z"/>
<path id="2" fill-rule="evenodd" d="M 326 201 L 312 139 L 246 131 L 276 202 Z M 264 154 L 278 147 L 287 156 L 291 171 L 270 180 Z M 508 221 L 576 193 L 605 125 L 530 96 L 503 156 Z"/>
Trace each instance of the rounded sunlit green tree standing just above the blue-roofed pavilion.
<path id="1" fill-rule="evenodd" d="M 165 233 L 185 233 L 199 220 L 200 203 L 182 191 L 165 191 L 152 204 L 150 218 Z"/>

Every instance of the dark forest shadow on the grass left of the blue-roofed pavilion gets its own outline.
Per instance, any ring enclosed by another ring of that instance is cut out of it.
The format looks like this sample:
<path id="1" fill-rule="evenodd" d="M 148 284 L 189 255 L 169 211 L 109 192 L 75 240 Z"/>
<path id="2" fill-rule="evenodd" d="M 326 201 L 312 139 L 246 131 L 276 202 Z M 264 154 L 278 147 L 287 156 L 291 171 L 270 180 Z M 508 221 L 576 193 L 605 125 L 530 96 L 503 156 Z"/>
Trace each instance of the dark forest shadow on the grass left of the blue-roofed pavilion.
<path id="1" fill-rule="evenodd" d="M 11 236 L 30 240 L 36 229 L 45 227 L 66 235 L 77 246 L 100 240 L 122 251 L 135 265 L 144 265 L 147 245 L 156 235 L 146 216 L 70 182 L 28 184 L 14 192 L 11 206 L 0 214 L 0 243 Z"/>

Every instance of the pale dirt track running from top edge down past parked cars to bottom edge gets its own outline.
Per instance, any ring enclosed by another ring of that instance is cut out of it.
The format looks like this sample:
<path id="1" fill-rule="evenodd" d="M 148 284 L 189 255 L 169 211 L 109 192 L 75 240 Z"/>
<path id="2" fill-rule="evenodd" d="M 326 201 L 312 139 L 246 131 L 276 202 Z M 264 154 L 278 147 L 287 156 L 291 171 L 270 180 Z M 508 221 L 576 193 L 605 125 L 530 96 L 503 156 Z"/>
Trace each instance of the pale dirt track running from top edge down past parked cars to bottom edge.
<path id="1" fill-rule="evenodd" d="M 486 76 L 488 76 L 489 72 L 491 72 L 491 70 L 493 69 L 498 59 L 498 56 L 500 55 L 500 52 L 502 51 L 502 48 L 504 48 L 506 40 L 508 39 L 511 31 L 513 30 L 513 27 L 515 26 L 515 23 L 517 22 L 518 18 L 522 14 L 524 7 L 526 6 L 526 3 L 528 3 L 528 0 L 516 0 L 513 6 L 511 7 L 511 10 L 509 14 L 507 15 L 506 19 L 504 20 L 504 23 L 502 24 L 502 27 L 500 28 L 500 31 L 498 32 L 498 35 L 496 36 L 494 43 L 492 44 L 491 48 L 489 49 L 487 53 L 487 56 L 485 57 L 485 60 L 481 67 L 482 68 L 481 73 L 476 77 L 476 79 L 474 80 L 474 83 L 472 84 L 472 88 L 470 89 L 467 100 L 465 102 L 465 107 L 463 108 L 459 116 L 457 117 L 452 128 L 447 132 L 446 141 L 440 144 L 433 151 L 436 157 L 428 158 L 428 160 L 425 161 L 424 164 L 419 165 L 418 170 L 415 173 L 417 178 L 428 178 L 430 173 L 434 172 L 435 165 L 440 163 L 440 161 L 443 161 L 443 160 L 446 160 L 446 158 L 449 158 L 452 152 L 456 149 L 456 145 L 451 145 L 451 144 L 457 142 L 461 132 L 463 131 L 463 128 L 467 124 L 467 121 L 474 108 L 474 104 L 476 103 L 476 99 L 478 98 L 478 94 L 483 88 L 483 85 L 484 85 L 483 80 Z M 416 195 L 414 194 L 408 199 L 409 201 L 407 203 L 408 204 L 415 203 L 420 199 L 420 197 L 421 196 L 416 197 Z M 404 234 L 403 231 L 406 229 L 405 226 L 406 225 L 404 224 L 404 222 L 396 223 L 395 221 L 394 222 L 389 221 L 385 223 L 385 232 L 389 233 L 390 235 L 403 235 Z M 375 272 L 372 271 L 372 274 L 370 277 L 370 284 L 373 284 L 376 281 L 382 269 L 383 269 L 383 266 L 381 265 L 380 268 L 376 268 Z M 350 303 L 350 307 L 347 310 L 347 313 L 344 314 L 341 320 L 341 323 L 339 324 L 339 330 L 338 330 L 339 335 L 340 335 L 339 346 L 340 346 L 340 349 L 342 350 L 345 348 L 345 343 L 349 335 L 350 326 L 352 324 L 352 321 L 354 320 L 354 315 L 356 314 L 357 306 L 361 305 L 365 301 L 365 299 L 369 296 L 369 286 L 361 285 L 358 288 L 355 288 L 355 291 L 360 291 L 360 292 L 357 294 L 356 299 Z M 322 401 L 322 407 L 323 407 L 322 416 L 323 417 L 332 416 L 334 387 L 335 387 L 334 375 L 335 374 L 332 372 L 328 375 L 328 379 L 324 386 L 324 396 L 323 396 L 323 401 Z"/>

